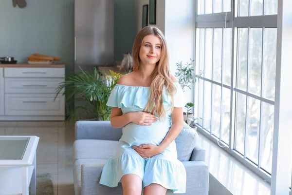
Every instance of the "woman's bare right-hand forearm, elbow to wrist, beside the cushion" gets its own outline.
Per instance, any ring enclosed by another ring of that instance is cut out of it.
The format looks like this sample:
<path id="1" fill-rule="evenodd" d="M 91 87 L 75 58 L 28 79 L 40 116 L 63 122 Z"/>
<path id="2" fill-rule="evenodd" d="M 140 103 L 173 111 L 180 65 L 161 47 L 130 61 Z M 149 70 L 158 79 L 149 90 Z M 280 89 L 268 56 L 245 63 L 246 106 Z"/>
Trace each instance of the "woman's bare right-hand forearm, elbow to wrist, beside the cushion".
<path id="1" fill-rule="evenodd" d="M 163 152 L 165 148 L 175 140 L 176 137 L 183 130 L 183 108 L 173 108 L 171 114 L 172 125 L 169 132 L 164 137 L 164 140 L 159 144 L 160 151 Z"/>

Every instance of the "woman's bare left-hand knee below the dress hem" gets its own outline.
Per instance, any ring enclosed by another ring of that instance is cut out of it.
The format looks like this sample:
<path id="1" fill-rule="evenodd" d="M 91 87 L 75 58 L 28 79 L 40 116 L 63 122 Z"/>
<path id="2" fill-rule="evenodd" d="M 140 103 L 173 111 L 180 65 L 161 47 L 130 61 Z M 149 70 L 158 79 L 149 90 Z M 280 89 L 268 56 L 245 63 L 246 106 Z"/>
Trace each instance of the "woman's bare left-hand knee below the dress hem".
<path id="1" fill-rule="evenodd" d="M 124 195 L 141 195 L 142 179 L 135 174 L 127 174 L 121 178 Z"/>

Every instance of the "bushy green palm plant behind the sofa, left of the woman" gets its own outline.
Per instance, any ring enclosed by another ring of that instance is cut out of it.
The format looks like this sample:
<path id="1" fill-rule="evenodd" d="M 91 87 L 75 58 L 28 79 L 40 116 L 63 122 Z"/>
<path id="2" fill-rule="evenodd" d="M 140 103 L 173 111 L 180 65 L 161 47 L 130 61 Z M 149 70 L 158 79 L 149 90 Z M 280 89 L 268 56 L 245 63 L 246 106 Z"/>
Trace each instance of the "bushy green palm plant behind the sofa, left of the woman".
<path id="1" fill-rule="evenodd" d="M 81 69 L 81 68 L 80 68 Z M 113 87 L 122 76 L 110 70 L 103 78 L 96 68 L 89 71 L 73 73 L 65 81 L 59 83 L 55 90 L 56 96 L 62 93 L 69 104 L 85 102 L 82 105 L 69 107 L 68 122 L 76 120 L 109 120 L 110 107 L 106 105 Z"/>

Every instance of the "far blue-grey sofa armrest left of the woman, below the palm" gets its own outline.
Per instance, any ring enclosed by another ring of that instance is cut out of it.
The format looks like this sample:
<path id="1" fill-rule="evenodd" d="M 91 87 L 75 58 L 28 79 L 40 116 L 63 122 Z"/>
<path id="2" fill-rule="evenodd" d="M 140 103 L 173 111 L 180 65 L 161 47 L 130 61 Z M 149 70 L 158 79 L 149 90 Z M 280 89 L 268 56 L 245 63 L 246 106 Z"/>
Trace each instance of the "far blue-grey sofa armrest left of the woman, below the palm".
<path id="1" fill-rule="evenodd" d="M 77 121 L 76 139 L 102 139 L 118 141 L 122 137 L 122 128 L 114 129 L 110 121 Z"/>

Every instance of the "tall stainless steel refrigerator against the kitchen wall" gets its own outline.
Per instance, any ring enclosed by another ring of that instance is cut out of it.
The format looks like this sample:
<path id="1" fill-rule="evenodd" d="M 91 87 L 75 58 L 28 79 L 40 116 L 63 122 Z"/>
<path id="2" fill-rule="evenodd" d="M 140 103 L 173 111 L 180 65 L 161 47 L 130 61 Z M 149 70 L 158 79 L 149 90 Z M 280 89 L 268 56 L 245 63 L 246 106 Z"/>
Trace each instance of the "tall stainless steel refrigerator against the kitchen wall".
<path id="1" fill-rule="evenodd" d="M 113 0 L 75 0 L 74 72 L 114 63 Z"/>

